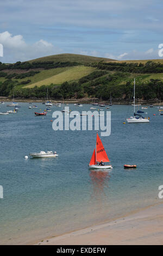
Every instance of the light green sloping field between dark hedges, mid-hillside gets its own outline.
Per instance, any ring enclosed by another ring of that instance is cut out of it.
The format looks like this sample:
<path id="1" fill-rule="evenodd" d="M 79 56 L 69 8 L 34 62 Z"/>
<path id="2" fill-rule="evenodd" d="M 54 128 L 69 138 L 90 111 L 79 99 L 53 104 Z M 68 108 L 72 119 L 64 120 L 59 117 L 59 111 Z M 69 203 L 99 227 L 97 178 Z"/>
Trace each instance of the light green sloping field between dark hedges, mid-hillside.
<path id="1" fill-rule="evenodd" d="M 28 86 L 24 86 L 23 88 L 33 88 L 35 86 L 48 86 L 51 83 L 53 84 L 61 84 L 68 81 L 75 81 L 79 80 L 83 76 L 89 75 L 91 72 L 95 71 L 95 68 L 92 68 L 90 66 L 75 66 L 75 67 L 69 67 L 67 70 L 64 70 L 63 72 L 60 72 L 57 75 L 52 75 L 51 77 L 48 77 L 46 79 L 43 79 L 39 82 L 35 82 L 32 84 L 29 84 Z M 44 70 L 47 72 L 47 70 Z M 43 71 L 41 71 L 43 72 Z M 38 74 L 39 75 L 39 74 Z"/>

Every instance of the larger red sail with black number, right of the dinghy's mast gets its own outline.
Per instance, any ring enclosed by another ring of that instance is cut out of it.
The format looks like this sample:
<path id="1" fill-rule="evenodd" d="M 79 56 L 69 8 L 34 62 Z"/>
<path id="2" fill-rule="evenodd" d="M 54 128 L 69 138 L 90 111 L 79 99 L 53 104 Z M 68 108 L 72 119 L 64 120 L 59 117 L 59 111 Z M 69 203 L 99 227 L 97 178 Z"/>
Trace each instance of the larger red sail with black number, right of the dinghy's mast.
<path id="1" fill-rule="evenodd" d="M 96 140 L 96 161 L 110 162 L 104 149 L 103 143 L 101 142 L 101 139 L 99 138 L 98 134 Z"/>

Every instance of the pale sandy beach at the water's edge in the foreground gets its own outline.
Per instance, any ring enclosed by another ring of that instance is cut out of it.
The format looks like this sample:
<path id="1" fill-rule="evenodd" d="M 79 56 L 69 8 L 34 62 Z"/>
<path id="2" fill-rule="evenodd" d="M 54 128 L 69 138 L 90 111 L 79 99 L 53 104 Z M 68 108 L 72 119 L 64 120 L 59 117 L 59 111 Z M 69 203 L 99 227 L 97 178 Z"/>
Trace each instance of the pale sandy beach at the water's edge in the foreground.
<path id="1" fill-rule="evenodd" d="M 36 245 L 163 245 L 163 204 Z"/>

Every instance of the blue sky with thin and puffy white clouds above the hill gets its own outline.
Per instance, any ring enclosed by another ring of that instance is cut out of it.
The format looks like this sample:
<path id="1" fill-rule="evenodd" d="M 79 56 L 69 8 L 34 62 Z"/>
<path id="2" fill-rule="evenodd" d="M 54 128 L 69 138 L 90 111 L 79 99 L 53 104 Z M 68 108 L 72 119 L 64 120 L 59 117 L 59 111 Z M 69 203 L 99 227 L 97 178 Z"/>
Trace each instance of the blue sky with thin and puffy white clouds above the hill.
<path id="1" fill-rule="evenodd" d="M 0 62 L 60 53 L 159 59 L 162 0 L 0 1 Z"/>

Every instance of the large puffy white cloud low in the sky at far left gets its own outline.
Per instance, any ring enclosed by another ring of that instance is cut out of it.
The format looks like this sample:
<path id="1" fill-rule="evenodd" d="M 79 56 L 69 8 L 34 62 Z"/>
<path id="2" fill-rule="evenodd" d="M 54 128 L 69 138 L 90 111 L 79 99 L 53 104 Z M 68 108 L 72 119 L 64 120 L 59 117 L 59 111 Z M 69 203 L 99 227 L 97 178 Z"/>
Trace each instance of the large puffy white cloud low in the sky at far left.
<path id="1" fill-rule="evenodd" d="M 4 57 L 1 62 L 26 61 L 29 59 L 39 58 L 47 55 L 61 53 L 59 47 L 43 39 L 34 44 L 27 44 L 22 35 L 12 35 L 8 31 L 0 33 L 0 44 L 4 48 Z"/>

